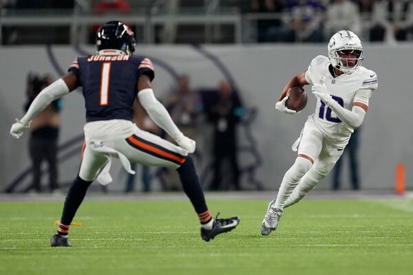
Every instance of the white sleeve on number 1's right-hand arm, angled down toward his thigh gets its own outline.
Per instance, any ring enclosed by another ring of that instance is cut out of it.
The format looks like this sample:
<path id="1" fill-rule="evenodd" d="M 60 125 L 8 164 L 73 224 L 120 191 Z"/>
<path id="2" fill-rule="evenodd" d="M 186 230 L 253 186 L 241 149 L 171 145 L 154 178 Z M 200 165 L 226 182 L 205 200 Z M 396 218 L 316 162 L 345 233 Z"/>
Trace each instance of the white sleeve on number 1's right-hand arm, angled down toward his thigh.
<path id="1" fill-rule="evenodd" d="M 176 140 L 181 131 L 173 122 L 171 115 L 169 115 L 167 109 L 155 98 L 152 89 L 142 89 L 138 92 L 138 99 L 142 107 L 145 108 L 149 117 L 164 129 L 172 138 Z"/>

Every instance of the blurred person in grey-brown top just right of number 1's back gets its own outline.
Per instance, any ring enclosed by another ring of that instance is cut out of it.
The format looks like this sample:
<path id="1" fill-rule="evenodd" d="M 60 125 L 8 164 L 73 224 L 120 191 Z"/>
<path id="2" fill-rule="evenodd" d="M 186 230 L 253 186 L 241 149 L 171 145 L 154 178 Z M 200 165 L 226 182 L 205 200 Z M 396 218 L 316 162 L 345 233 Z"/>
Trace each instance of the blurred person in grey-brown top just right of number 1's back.
<path id="1" fill-rule="evenodd" d="M 180 131 L 195 140 L 197 115 L 202 109 L 202 104 L 198 94 L 189 87 L 188 76 L 180 76 L 178 87 L 170 94 L 166 107 Z M 173 142 L 172 140 L 169 141 Z M 168 184 L 171 190 L 180 188 L 180 179 L 173 170 L 169 170 Z"/>

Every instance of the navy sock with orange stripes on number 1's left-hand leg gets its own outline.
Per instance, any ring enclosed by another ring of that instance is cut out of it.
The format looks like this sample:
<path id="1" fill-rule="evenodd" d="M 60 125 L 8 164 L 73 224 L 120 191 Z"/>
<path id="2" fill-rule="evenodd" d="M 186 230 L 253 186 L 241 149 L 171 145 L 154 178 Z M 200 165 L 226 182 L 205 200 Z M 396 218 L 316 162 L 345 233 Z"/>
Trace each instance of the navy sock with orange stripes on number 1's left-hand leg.
<path id="1" fill-rule="evenodd" d="M 90 184 L 92 184 L 92 181 L 84 181 L 79 176 L 77 176 L 73 181 L 69 192 L 67 192 L 65 206 L 63 206 L 63 214 L 61 217 L 61 225 L 67 227 L 67 229 L 60 231 L 58 230 L 58 234 L 67 234 L 69 232 L 70 223 L 72 223 L 74 214 L 76 214 L 79 206 L 81 206 L 81 203 L 85 198 L 87 188 Z M 61 228 L 61 225 L 59 225 L 59 228 Z"/>

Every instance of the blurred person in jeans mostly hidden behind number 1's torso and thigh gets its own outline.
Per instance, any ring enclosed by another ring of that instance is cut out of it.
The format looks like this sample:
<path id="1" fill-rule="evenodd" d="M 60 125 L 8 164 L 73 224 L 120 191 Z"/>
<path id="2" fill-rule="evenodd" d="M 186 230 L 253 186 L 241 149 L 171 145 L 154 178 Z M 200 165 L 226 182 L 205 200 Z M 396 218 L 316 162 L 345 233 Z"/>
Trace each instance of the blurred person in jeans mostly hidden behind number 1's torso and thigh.
<path id="1" fill-rule="evenodd" d="M 143 109 L 142 105 L 139 103 L 139 100 L 134 100 L 134 122 L 139 129 L 143 131 L 148 131 L 149 133 L 153 133 L 155 135 L 160 134 L 160 128 L 158 125 L 153 123 L 149 115 Z M 150 167 L 146 165 L 142 166 L 142 191 L 149 192 L 151 190 L 151 173 Z M 138 168 L 138 164 L 136 162 L 131 162 L 131 169 L 135 170 Z M 136 171 L 137 172 L 137 171 Z M 135 175 L 128 174 L 126 180 L 126 188 L 125 192 L 133 192 L 135 189 Z"/>

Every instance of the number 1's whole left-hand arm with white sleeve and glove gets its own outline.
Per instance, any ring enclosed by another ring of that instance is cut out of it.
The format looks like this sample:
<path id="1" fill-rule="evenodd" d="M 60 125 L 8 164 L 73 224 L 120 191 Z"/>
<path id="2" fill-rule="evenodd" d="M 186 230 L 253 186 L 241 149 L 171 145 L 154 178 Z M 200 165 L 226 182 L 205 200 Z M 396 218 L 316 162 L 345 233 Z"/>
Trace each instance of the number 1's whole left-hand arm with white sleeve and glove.
<path id="1" fill-rule="evenodd" d="M 36 115 L 43 111 L 53 100 L 61 98 L 66 94 L 69 94 L 70 91 L 73 91 L 77 88 L 77 77 L 76 75 L 69 73 L 59 78 L 59 80 L 54 81 L 51 85 L 45 87 L 36 98 L 34 98 L 32 104 L 27 113 L 17 120 L 12 125 L 10 129 L 10 135 L 14 138 L 19 138 L 23 135 L 23 132 L 30 127 L 30 123 Z"/>

